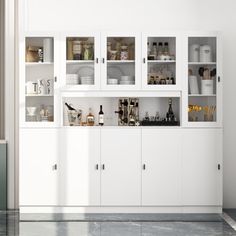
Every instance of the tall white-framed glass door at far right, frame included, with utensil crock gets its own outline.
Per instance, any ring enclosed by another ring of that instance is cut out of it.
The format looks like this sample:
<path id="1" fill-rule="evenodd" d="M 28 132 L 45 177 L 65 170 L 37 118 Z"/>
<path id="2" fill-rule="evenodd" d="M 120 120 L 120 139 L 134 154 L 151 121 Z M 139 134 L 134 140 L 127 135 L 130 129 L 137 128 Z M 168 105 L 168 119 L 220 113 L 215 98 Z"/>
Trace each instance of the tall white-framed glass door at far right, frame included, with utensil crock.
<path id="1" fill-rule="evenodd" d="M 216 126 L 221 123 L 221 64 L 219 37 L 213 35 L 187 38 L 188 123 Z"/>

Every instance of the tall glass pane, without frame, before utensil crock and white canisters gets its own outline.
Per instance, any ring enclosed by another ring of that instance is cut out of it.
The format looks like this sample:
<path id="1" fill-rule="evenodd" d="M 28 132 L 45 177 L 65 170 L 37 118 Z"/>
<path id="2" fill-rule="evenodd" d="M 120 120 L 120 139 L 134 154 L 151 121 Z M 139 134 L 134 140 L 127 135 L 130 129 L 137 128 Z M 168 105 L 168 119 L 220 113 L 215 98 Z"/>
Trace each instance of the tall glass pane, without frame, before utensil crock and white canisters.
<path id="1" fill-rule="evenodd" d="M 188 120 L 216 121 L 216 38 L 190 37 L 188 49 Z"/>

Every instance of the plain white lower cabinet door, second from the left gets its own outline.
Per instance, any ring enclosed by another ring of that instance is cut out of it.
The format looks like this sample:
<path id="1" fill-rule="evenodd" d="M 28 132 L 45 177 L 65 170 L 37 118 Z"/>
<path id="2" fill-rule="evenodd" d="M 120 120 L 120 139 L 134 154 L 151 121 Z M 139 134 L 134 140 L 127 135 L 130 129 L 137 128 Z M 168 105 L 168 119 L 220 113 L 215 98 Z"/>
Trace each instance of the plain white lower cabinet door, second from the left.
<path id="1" fill-rule="evenodd" d="M 100 204 L 100 129 L 65 128 L 60 161 L 60 204 Z"/>

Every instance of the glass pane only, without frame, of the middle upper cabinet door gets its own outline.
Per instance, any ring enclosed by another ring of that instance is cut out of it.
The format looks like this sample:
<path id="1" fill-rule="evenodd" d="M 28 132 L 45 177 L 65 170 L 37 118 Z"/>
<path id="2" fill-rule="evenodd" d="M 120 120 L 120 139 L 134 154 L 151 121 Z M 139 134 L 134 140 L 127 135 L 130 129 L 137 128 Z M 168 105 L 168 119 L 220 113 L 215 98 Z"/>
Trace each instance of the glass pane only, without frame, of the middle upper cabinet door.
<path id="1" fill-rule="evenodd" d="M 135 84 L 135 38 L 107 38 L 107 84 Z"/>

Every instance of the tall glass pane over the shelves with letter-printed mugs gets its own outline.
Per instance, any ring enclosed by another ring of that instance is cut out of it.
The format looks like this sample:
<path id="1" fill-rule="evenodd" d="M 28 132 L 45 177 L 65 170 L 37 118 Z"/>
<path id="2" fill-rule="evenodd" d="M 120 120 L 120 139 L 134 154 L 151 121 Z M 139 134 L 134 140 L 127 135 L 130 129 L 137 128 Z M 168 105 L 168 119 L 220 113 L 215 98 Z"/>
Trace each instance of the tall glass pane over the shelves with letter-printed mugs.
<path id="1" fill-rule="evenodd" d="M 54 121 L 54 40 L 27 37 L 25 115 L 27 122 Z"/>

